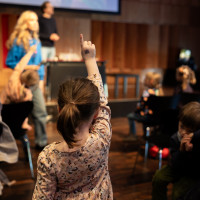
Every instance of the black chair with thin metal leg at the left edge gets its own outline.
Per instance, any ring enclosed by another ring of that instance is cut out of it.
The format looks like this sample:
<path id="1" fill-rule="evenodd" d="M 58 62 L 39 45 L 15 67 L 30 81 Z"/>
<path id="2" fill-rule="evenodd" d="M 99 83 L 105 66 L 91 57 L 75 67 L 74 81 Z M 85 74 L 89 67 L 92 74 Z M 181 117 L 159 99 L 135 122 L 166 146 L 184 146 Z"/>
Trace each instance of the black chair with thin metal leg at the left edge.
<path id="1" fill-rule="evenodd" d="M 4 104 L 2 108 L 2 120 L 9 126 L 15 139 L 21 140 L 24 146 L 25 155 L 28 157 L 31 176 L 34 178 L 30 142 L 26 134 L 26 129 L 22 129 L 22 124 L 33 109 L 33 102 L 26 101 L 13 104 Z"/>

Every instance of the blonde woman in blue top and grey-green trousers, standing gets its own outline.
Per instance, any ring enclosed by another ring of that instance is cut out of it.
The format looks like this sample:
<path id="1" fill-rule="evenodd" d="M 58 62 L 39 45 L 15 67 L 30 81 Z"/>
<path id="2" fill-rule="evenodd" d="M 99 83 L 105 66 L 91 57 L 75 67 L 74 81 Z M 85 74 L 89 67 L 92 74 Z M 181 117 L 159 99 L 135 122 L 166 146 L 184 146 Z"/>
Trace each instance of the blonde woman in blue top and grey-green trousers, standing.
<path id="1" fill-rule="evenodd" d="M 33 11 L 23 12 L 7 41 L 9 49 L 6 59 L 6 65 L 15 69 L 19 61 L 28 52 L 29 48 L 36 45 L 36 51 L 31 56 L 26 69 L 38 71 L 40 83 L 44 79 L 44 66 L 40 65 L 41 58 L 41 43 L 38 39 L 38 17 Z M 46 107 L 42 91 L 39 87 L 30 88 L 33 94 L 34 108 L 32 111 L 33 121 L 35 125 L 35 143 L 39 148 L 43 148 L 47 144 L 46 137 Z"/>

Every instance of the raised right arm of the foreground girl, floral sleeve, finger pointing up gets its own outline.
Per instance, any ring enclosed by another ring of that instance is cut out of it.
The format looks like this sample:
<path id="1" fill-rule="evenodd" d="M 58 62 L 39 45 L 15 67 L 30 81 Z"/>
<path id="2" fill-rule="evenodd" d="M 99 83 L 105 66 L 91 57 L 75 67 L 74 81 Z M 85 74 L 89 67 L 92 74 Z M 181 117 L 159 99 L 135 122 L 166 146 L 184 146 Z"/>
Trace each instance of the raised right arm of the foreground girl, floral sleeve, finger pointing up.
<path id="1" fill-rule="evenodd" d="M 98 115 L 95 117 L 94 123 L 91 127 L 91 132 L 96 132 L 100 137 L 106 141 L 107 144 L 110 143 L 111 140 L 111 111 L 107 106 L 107 98 L 104 94 L 103 83 L 101 79 L 101 75 L 99 73 L 99 69 L 96 63 L 96 49 L 95 45 L 90 41 L 84 41 L 83 35 L 80 35 L 81 42 L 81 54 L 85 61 L 85 65 L 88 72 L 88 79 L 90 79 L 98 88 L 100 94 L 100 108 L 98 111 Z"/>

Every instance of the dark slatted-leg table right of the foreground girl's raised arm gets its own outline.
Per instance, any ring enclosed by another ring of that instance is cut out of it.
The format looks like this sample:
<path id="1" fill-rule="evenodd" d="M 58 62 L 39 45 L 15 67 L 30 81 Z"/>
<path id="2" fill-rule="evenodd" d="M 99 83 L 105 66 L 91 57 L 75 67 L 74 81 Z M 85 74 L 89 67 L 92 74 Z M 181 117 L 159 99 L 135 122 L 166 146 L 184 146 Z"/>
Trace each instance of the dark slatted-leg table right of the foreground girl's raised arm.
<path id="1" fill-rule="evenodd" d="M 135 92 L 136 92 L 136 97 L 139 98 L 139 92 L 140 92 L 140 76 L 139 74 L 126 74 L 126 73 L 106 73 L 106 76 L 112 76 L 115 78 L 115 98 L 118 97 L 119 93 L 118 93 L 118 79 L 119 78 L 123 78 L 124 79 L 124 88 L 123 88 L 123 94 L 124 97 L 127 96 L 127 83 L 128 83 L 128 78 L 135 78 L 136 79 L 136 88 L 135 88 Z"/>

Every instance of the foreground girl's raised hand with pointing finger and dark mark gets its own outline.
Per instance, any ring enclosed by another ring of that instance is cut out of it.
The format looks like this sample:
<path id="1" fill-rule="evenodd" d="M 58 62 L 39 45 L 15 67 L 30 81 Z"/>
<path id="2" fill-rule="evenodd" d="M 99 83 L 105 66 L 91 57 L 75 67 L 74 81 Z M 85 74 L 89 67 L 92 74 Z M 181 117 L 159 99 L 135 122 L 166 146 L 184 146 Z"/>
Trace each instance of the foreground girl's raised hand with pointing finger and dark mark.
<path id="1" fill-rule="evenodd" d="M 96 48 L 91 41 L 84 41 L 83 34 L 80 34 L 80 43 L 81 43 L 81 55 L 84 60 L 95 59 L 96 57 Z"/>

